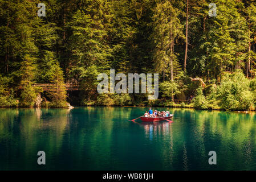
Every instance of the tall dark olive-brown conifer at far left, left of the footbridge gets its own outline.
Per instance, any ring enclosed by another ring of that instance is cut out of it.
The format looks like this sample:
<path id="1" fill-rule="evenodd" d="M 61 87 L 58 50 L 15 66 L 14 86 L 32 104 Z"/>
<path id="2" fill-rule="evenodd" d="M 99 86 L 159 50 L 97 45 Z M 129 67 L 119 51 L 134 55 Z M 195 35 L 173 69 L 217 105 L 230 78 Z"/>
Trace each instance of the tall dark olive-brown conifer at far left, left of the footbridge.
<path id="1" fill-rule="evenodd" d="M 37 88 L 32 87 L 35 78 L 35 61 L 38 48 L 34 33 L 38 16 L 36 1 L 0 1 L 1 34 L 0 57 L 3 73 L 10 77 L 10 85 L 19 99 L 19 106 L 34 106 Z M 3 13 L 2 13 L 3 12 Z"/>

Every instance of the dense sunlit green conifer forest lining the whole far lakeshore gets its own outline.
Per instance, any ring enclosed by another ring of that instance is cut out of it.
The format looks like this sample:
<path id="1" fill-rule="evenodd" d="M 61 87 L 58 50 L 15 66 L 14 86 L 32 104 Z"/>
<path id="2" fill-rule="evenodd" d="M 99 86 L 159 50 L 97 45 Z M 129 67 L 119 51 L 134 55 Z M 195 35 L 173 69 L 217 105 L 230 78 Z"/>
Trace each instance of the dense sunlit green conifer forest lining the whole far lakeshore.
<path id="1" fill-rule="evenodd" d="M 43 107 L 255 110 L 254 1 L 216 0 L 217 16 L 209 16 L 212 1 L 205 0 L 48 0 L 46 16 L 38 16 L 38 3 L 0 0 L 1 107 L 42 100 Z M 97 75 L 111 68 L 159 73 L 159 99 L 97 93 Z M 80 89 L 66 91 L 64 83 Z"/>

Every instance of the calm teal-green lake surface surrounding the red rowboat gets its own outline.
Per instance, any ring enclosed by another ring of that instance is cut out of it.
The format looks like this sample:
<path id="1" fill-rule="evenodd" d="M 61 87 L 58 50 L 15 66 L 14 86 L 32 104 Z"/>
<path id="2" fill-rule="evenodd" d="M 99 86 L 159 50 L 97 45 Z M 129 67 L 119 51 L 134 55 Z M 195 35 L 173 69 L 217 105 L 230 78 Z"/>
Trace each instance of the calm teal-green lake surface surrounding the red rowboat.
<path id="1" fill-rule="evenodd" d="M 169 109 L 174 123 L 128 121 L 147 109 L 0 109 L 0 170 L 256 170 L 255 114 Z"/>

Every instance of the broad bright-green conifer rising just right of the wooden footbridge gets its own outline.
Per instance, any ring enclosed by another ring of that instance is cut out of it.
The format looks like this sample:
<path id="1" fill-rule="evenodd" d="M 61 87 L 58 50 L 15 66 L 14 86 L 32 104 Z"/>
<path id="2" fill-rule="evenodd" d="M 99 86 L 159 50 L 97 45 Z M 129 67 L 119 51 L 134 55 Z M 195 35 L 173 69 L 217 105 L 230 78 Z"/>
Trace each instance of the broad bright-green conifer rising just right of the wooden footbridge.
<path id="1" fill-rule="evenodd" d="M 107 29 L 111 14 L 108 3 L 95 1 L 87 7 L 81 7 L 72 16 L 67 26 L 72 30 L 68 39 L 68 50 L 71 52 L 71 72 L 80 67 L 97 65 L 101 71 L 109 68 L 108 59 L 111 49 L 107 42 Z"/>

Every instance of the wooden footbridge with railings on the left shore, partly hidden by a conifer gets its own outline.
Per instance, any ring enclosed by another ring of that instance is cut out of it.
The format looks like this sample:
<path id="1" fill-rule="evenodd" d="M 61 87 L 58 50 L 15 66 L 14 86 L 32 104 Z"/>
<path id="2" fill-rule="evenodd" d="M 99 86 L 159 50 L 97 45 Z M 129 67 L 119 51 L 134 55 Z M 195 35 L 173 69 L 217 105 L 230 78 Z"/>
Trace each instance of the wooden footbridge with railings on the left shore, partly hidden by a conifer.
<path id="1" fill-rule="evenodd" d="M 56 91 L 59 89 L 59 85 L 56 84 L 34 84 L 32 86 L 39 86 L 43 91 Z M 79 84 L 64 84 L 64 90 L 79 90 Z"/>

